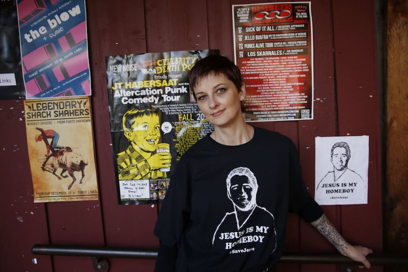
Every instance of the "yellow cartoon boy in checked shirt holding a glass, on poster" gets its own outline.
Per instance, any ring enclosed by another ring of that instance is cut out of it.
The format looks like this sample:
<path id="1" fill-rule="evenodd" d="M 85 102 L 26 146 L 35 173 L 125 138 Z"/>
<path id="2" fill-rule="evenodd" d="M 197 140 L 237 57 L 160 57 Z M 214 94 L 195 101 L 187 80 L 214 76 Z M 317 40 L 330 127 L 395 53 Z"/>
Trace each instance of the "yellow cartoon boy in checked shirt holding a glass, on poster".
<path id="1" fill-rule="evenodd" d="M 160 168 L 170 167 L 170 152 L 156 152 L 160 140 L 159 116 L 150 109 L 131 109 L 123 115 L 129 147 L 117 154 L 119 180 L 142 180 L 167 177 Z"/>

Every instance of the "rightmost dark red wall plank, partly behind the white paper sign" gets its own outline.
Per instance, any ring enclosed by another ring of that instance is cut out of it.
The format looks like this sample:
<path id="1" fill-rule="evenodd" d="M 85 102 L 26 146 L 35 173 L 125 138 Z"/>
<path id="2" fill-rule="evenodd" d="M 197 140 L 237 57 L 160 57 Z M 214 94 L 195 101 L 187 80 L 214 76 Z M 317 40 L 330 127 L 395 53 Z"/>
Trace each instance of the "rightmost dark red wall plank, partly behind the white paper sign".
<path id="1" fill-rule="evenodd" d="M 370 137 L 368 204 L 342 207 L 342 231 L 350 243 L 364 244 L 381 253 L 381 153 L 374 2 L 333 0 L 333 22 L 339 135 Z"/>

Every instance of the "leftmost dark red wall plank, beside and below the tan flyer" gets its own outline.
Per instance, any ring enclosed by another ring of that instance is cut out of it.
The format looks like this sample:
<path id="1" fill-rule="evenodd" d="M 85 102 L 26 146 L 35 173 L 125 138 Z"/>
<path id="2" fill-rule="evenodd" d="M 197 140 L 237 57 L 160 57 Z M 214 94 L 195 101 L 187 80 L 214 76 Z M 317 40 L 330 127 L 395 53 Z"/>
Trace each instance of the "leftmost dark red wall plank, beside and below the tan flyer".
<path id="1" fill-rule="evenodd" d="M 31 254 L 48 243 L 45 204 L 33 203 L 23 100 L 0 100 L 0 271 L 51 271 L 50 256 Z"/>

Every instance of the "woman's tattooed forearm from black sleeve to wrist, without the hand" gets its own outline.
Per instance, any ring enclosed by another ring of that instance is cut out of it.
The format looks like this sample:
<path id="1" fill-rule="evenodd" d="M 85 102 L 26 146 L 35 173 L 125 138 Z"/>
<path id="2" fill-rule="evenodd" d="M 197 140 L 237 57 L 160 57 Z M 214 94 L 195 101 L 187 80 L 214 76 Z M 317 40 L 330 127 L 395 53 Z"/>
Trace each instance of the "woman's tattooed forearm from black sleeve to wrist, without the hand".
<path id="1" fill-rule="evenodd" d="M 311 222 L 329 242 L 331 242 L 340 253 L 344 253 L 349 247 L 349 243 L 344 240 L 336 228 L 330 223 L 327 217 L 323 214 L 316 221 Z"/>

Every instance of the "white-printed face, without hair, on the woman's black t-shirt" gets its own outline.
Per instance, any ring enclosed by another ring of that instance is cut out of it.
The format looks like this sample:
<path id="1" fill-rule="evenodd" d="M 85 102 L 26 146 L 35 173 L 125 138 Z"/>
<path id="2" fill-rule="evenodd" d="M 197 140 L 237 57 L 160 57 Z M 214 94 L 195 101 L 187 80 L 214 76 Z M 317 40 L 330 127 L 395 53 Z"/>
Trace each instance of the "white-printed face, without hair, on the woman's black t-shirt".
<path id="1" fill-rule="evenodd" d="M 251 204 L 253 187 L 246 176 L 233 176 L 231 178 L 230 193 L 233 203 L 240 209 Z"/>

